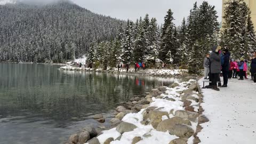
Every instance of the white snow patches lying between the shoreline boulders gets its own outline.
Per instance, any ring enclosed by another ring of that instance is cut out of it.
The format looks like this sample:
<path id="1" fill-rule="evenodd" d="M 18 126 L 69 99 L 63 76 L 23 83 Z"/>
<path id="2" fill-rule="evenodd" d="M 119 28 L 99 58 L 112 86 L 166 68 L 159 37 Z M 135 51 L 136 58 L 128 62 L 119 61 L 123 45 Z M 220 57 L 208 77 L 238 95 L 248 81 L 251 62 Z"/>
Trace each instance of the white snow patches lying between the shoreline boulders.
<path id="1" fill-rule="evenodd" d="M 174 113 L 176 110 L 184 110 L 183 102 L 181 102 L 181 98 L 179 97 L 180 94 L 177 93 L 178 91 L 187 90 L 188 87 L 186 86 L 188 83 L 195 82 L 195 80 L 190 79 L 189 82 L 182 82 L 179 83 L 179 86 L 174 88 L 168 88 L 166 90 L 167 95 L 162 94 L 164 97 L 169 97 L 175 99 L 176 101 L 169 101 L 165 99 L 156 99 L 153 97 L 153 102 L 150 103 L 149 107 L 157 107 L 160 108 L 159 111 L 166 111 L 167 113 L 170 112 L 171 109 L 174 109 Z M 176 82 L 178 83 L 178 82 Z M 196 93 L 196 92 L 195 92 Z M 198 93 L 198 92 L 197 92 Z M 197 95 L 197 94 L 196 94 Z M 197 95 L 198 97 L 198 95 Z M 195 105 L 198 103 L 194 102 Z M 162 109 L 161 109 L 162 108 Z M 125 132 L 122 135 L 121 140 L 111 141 L 111 144 L 130 144 L 134 137 L 141 137 L 142 140 L 138 142 L 138 144 L 168 144 L 171 140 L 177 139 L 176 135 L 170 135 L 169 132 L 160 132 L 154 129 L 152 125 L 142 125 L 140 122 L 143 120 L 143 111 L 145 109 L 141 109 L 139 113 L 130 113 L 123 117 L 122 121 L 127 123 L 132 123 L 137 126 L 136 129 L 130 132 Z M 173 114 L 170 114 L 169 117 L 174 117 Z M 167 116 L 163 116 L 162 119 L 167 119 Z M 191 122 L 191 128 L 196 131 L 197 120 L 196 122 Z M 112 137 L 114 139 L 118 138 L 121 134 L 116 130 L 116 128 L 103 131 L 103 134 L 99 135 L 97 138 L 99 142 L 103 144 L 108 138 Z M 150 137 L 146 137 L 145 135 L 151 135 Z M 188 139 L 188 144 L 192 144 L 194 140 L 194 136 Z M 87 144 L 87 143 L 86 143 Z"/>

